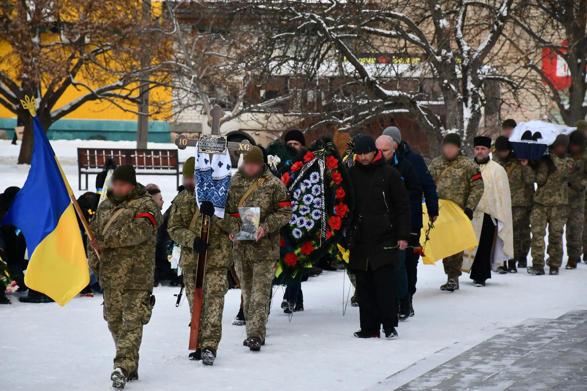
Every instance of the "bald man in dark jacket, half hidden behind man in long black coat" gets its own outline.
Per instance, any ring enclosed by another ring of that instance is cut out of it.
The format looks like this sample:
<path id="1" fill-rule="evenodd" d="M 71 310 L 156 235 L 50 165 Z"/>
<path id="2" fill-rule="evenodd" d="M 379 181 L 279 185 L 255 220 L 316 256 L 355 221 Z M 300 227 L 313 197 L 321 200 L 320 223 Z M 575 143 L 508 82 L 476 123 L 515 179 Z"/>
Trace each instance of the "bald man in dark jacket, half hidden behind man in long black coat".
<path id="1" fill-rule="evenodd" d="M 422 186 L 420 185 L 420 179 L 414 165 L 405 159 L 402 155 L 396 153 L 396 148 L 393 143 L 393 138 L 387 135 L 381 135 L 377 137 L 375 146 L 379 149 L 386 161 L 393 166 L 393 168 L 399 171 L 402 175 L 402 181 L 406 186 L 408 198 L 410 199 L 410 205 L 419 202 L 422 203 Z M 414 209 L 411 209 L 411 223 L 414 224 L 419 219 L 422 220 L 422 216 L 414 215 Z M 413 231 L 413 230 L 412 230 Z M 413 246 L 413 244 L 412 244 Z M 399 314 L 397 315 L 400 321 L 404 321 L 410 317 L 410 300 L 411 295 L 408 290 L 408 279 L 406 271 L 406 253 L 413 252 L 413 250 L 402 250 L 400 251 L 400 261 L 394 265 L 394 275 L 396 281 L 396 293 L 397 300 L 400 302 Z"/>

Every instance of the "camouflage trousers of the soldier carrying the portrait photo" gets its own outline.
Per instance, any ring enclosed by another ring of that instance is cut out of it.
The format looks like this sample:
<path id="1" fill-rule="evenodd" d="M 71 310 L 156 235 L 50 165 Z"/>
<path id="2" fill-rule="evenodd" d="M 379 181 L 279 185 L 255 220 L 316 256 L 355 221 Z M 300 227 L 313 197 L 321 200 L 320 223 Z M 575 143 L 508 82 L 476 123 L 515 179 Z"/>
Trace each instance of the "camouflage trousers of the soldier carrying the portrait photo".
<path id="1" fill-rule="evenodd" d="M 271 283 L 275 277 L 276 261 L 244 259 L 235 261 L 234 268 L 241 281 L 243 305 L 247 320 L 247 338 L 258 336 L 265 340 Z"/>

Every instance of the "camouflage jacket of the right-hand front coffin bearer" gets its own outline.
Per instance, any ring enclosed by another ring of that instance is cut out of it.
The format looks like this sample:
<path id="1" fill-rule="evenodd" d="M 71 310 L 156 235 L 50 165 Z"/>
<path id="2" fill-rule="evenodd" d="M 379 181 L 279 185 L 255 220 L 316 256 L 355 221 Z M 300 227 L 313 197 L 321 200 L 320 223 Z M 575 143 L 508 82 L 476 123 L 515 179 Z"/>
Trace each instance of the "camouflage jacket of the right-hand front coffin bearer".
<path id="1" fill-rule="evenodd" d="M 550 151 L 548 157 L 538 163 L 534 203 L 544 206 L 566 205 L 569 201 L 568 181 L 572 174 L 573 159 L 559 158 Z"/>

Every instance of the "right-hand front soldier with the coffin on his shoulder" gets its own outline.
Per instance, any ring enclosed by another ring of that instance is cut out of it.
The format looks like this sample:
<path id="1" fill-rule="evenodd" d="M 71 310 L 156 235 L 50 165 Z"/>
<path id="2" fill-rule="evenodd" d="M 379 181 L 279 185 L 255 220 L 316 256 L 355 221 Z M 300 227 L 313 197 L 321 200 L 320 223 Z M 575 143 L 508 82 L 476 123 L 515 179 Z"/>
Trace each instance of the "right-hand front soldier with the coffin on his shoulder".
<path id="1" fill-rule="evenodd" d="M 558 274 L 562 263 L 562 231 L 566 223 L 566 204 L 569 200 L 569 176 L 573 172 L 573 159 L 565 157 L 569 137 L 556 136 L 548 155 L 538 163 L 537 189 L 534 207 L 530 214 L 532 226 L 532 267 L 529 274 L 544 274 L 544 236 L 548 225 L 549 273 Z"/>

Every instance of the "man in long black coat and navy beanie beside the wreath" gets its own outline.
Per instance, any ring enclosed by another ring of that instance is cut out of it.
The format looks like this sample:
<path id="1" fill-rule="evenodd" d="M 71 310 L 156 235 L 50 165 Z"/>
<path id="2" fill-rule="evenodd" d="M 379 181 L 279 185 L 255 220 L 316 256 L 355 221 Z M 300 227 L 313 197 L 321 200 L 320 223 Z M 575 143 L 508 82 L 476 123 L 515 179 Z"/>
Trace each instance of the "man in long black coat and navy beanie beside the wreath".
<path id="1" fill-rule="evenodd" d="M 357 161 L 349 170 L 355 191 L 349 267 L 356 276 L 361 325 L 355 336 L 379 338 L 383 325 L 386 338 L 393 338 L 397 336 L 393 265 L 410 237 L 410 200 L 402 175 L 387 164 L 373 137 L 357 138 L 355 153 Z"/>

